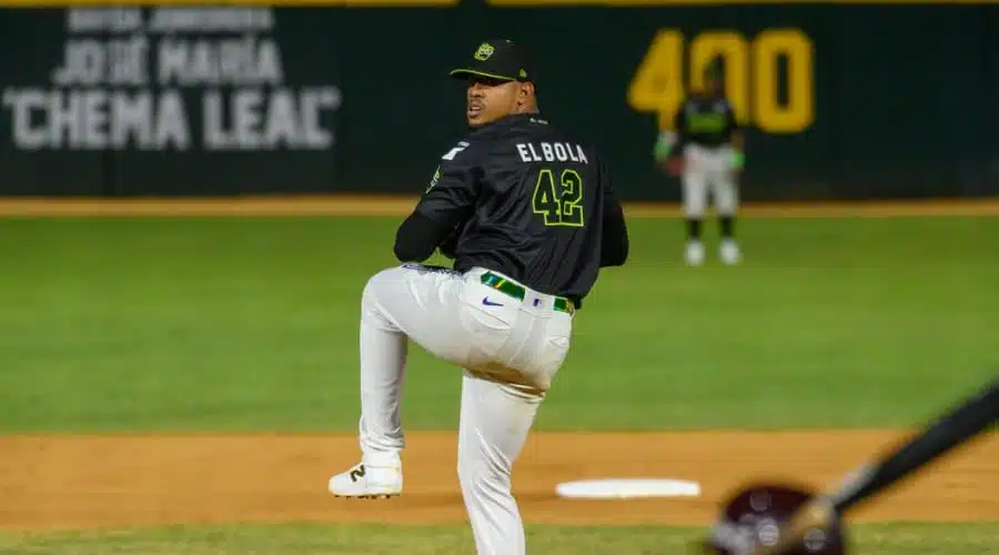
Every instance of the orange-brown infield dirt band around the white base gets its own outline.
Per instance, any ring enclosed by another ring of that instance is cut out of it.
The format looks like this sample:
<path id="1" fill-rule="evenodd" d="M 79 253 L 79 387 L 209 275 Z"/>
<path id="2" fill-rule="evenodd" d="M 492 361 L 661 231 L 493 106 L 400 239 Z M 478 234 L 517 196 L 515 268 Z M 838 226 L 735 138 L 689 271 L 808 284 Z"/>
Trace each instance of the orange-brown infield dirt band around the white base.
<path id="1" fill-rule="evenodd" d="M 754 478 L 821 487 L 899 432 L 534 433 L 514 468 L 524 519 L 538 524 L 709 523 Z M 454 433 L 412 433 L 405 492 L 341 500 L 331 474 L 357 461 L 353 435 L 9 436 L 0 438 L 0 527 L 121 527 L 222 522 L 465 519 Z M 999 437 L 955 453 L 856 514 L 857 521 L 999 521 Z M 578 501 L 559 482 L 697 481 L 697 498 Z"/>

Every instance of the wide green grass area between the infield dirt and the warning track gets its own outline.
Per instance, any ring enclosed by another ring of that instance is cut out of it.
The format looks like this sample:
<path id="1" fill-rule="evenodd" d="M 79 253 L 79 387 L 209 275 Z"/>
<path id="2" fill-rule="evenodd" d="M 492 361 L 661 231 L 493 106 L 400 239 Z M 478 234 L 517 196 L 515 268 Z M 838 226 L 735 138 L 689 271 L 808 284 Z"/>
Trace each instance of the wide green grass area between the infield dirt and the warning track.
<path id="1" fill-rule="evenodd" d="M 353 431 L 398 221 L 0 220 L 0 433 Z M 908 426 L 996 372 L 999 219 L 746 220 L 700 269 L 630 224 L 538 428 Z M 407 427 L 454 428 L 458 372 L 413 353 Z"/>

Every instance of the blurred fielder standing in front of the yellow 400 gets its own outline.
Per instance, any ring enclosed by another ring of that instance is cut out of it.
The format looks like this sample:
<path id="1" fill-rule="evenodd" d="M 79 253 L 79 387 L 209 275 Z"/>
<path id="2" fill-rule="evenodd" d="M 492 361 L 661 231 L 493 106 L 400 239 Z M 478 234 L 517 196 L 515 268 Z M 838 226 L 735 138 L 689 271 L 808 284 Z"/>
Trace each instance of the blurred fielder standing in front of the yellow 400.
<path id="1" fill-rule="evenodd" d="M 702 224 L 710 193 L 722 234 L 719 256 L 726 264 L 737 264 L 741 255 L 735 240 L 735 215 L 745 155 L 743 134 L 731 103 L 725 98 L 717 65 L 705 71 L 704 87 L 692 91 L 672 122 L 665 121 L 667 129 L 659 133 L 655 157 L 669 174 L 682 175 L 687 263 L 704 263 Z"/>

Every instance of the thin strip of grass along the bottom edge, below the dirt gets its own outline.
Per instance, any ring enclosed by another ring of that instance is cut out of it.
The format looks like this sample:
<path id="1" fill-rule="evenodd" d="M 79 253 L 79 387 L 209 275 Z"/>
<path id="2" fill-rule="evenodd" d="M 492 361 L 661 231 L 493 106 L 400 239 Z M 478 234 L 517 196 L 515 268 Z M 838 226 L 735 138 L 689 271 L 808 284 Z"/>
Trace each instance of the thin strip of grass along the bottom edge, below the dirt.
<path id="1" fill-rule="evenodd" d="M 678 555 L 699 528 L 656 526 L 528 526 L 532 553 L 547 555 Z M 852 553 L 861 555 L 985 555 L 999 545 L 999 523 L 852 526 Z M 285 555 L 475 553 L 467 526 L 243 525 L 174 526 L 121 532 L 0 535 L 3 554 Z"/>

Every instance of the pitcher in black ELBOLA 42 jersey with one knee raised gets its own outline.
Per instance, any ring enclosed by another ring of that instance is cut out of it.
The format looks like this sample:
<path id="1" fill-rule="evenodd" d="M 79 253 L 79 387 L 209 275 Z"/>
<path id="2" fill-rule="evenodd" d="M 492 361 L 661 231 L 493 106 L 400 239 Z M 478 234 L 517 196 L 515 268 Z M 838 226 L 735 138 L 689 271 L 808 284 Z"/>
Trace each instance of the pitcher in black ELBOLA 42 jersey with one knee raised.
<path id="1" fill-rule="evenodd" d="M 481 555 L 523 555 L 511 470 L 568 353 L 573 321 L 628 236 L 587 143 L 544 119 L 523 48 L 482 43 L 452 71 L 471 133 L 440 161 L 396 234 L 403 265 L 361 299 L 361 464 L 330 478 L 346 497 L 402 492 L 400 402 L 408 340 L 464 369 L 457 473 Z M 440 251 L 453 269 L 421 264 Z"/>

